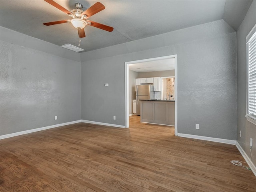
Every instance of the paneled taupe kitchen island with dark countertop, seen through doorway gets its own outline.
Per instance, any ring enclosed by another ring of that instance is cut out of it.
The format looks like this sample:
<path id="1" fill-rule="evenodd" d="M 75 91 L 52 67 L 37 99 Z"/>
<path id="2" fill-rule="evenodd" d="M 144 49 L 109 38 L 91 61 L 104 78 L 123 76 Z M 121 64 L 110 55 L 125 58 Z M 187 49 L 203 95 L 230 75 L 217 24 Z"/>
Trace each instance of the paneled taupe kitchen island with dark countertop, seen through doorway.
<path id="1" fill-rule="evenodd" d="M 140 100 L 140 122 L 175 125 L 175 100 Z"/>

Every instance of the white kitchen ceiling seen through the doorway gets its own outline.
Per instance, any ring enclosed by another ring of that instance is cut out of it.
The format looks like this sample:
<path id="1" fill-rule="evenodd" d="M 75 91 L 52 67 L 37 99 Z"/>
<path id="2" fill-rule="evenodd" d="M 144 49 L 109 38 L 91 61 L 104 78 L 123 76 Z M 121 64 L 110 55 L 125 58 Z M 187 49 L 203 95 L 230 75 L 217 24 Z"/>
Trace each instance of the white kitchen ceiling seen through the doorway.
<path id="1" fill-rule="evenodd" d="M 161 59 L 148 62 L 129 64 L 129 70 L 135 72 L 165 71 L 175 69 L 175 59 Z"/>

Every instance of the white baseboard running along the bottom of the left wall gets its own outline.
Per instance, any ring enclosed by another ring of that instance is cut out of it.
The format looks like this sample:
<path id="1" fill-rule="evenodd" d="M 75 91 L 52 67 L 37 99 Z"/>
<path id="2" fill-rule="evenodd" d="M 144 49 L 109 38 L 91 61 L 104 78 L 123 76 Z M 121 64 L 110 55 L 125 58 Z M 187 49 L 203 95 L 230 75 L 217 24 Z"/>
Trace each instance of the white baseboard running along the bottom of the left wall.
<path id="1" fill-rule="evenodd" d="M 18 136 L 18 135 L 24 135 L 24 134 L 28 134 L 28 133 L 33 133 L 33 132 L 37 132 L 37 131 L 42 131 L 42 130 L 46 130 L 46 129 L 60 127 L 60 126 L 64 126 L 64 125 L 80 123 L 80 122 L 81 122 L 81 120 L 77 120 L 77 121 L 71 121 L 71 122 L 66 122 L 66 123 L 61 123 L 61 124 L 56 124 L 56 125 L 50 125 L 50 126 L 36 128 L 36 129 L 30 129 L 30 130 L 26 130 L 26 131 L 20 131 L 20 132 L 6 134 L 6 135 L 0 135 L 0 140 L 1 139 L 6 139 L 6 138 L 9 138 L 9 137 L 15 137 L 15 136 Z"/>

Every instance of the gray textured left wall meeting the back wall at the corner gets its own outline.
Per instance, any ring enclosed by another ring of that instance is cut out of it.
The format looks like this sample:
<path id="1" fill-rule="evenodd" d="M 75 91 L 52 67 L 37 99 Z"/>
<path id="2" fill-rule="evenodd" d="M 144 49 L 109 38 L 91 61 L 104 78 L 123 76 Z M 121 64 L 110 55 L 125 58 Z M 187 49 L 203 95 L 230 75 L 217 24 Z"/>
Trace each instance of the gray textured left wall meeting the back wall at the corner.
<path id="1" fill-rule="evenodd" d="M 8 36 L 24 34 L 1 28 L 0 134 L 80 120 L 81 63 L 26 47 L 40 44 L 35 38 L 26 36 L 21 46 Z M 44 46 L 52 49 L 47 42 Z"/>

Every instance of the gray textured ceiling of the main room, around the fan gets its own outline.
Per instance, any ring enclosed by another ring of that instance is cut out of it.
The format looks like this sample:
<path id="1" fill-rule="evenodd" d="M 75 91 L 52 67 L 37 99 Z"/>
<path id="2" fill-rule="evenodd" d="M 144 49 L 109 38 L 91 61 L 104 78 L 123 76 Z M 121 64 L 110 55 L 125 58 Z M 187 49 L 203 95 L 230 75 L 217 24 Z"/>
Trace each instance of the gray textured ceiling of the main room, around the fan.
<path id="1" fill-rule="evenodd" d="M 86 10 L 95 0 L 55 0 L 68 10 L 83 4 Z M 224 19 L 235 30 L 252 0 L 99 0 L 106 9 L 90 20 L 114 27 L 107 32 L 86 26 L 80 48 L 90 51 L 149 36 Z M 78 45 L 78 32 L 70 24 L 42 23 L 70 19 L 44 0 L 0 0 L 0 26 L 51 42 Z"/>

